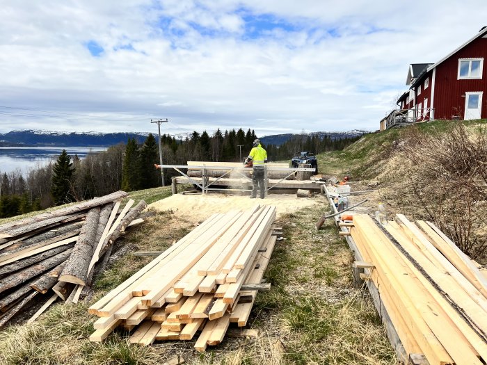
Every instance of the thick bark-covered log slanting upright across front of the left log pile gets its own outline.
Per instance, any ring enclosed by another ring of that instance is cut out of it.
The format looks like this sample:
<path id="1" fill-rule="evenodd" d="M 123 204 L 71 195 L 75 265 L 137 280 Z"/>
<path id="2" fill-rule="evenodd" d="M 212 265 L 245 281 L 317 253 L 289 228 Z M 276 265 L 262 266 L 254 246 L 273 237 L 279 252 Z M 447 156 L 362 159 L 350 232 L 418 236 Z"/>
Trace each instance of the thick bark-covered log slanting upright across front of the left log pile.
<path id="1" fill-rule="evenodd" d="M 79 238 L 74 245 L 70 259 L 67 260 L 63 273 L 59 277 L 60 282 L 73 284 L 86 284 L 88 266 L 95 251 L 95 238 L 97 234 L 100 209 L 93 208 L 88 212 L 85 223 L 81 227 Z"/>

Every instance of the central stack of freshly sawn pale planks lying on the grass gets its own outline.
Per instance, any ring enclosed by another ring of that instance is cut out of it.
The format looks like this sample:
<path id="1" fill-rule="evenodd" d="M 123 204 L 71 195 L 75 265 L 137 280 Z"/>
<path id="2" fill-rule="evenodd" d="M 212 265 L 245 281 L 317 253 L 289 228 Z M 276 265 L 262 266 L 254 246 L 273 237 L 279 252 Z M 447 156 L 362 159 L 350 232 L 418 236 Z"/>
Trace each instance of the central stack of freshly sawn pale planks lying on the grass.
<path id="1" fill-rule="evenodd" d="M 115 327 L 131 343 L 191 340 L 195 349 L 223 341 L 230 323 L 244 327 L 271 257 L 275 206 L 214 214 L 89 308 L 99 316 L 90 341 Z"/>

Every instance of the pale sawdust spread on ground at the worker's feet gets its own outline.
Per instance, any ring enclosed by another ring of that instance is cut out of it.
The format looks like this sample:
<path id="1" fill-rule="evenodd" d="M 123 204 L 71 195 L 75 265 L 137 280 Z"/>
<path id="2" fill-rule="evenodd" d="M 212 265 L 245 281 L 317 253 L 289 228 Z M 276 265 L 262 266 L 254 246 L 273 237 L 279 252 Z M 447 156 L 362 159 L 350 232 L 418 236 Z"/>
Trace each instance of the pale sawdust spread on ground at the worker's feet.
<path id="1" fill-rule="evenodd" d="M 275 205 L 278 218 L 282 214 L 293 213 L 306 206 L 324 204 L 323 197 L 303 198 L 291 194 L 269 195 L 265 199 L 250 199 L 248 196 L 225 195 L 212 193 L 209 195 L 176 194 L 149 205 L 149 209 L 172 211 L 176 216 L 184 216 L 195 222 L 205 220 L 214 213 L 226 213 L 231 210 L 250 209 L 255 204 Z"/>

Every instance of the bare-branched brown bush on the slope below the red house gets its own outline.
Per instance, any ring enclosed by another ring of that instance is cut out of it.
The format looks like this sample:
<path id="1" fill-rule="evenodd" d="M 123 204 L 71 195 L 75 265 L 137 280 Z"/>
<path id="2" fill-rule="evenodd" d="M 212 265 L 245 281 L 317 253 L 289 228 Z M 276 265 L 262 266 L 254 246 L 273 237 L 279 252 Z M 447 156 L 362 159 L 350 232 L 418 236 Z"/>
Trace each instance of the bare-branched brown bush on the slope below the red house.
<path id="1" fill-rule="evenodd" d="M 487 250 L 487 126 L 444 125 L 437 133 L 408 129 L 398 152 L 411 161 L 408 185 L 427 216 L 461 250 L 481 257 Z"/>

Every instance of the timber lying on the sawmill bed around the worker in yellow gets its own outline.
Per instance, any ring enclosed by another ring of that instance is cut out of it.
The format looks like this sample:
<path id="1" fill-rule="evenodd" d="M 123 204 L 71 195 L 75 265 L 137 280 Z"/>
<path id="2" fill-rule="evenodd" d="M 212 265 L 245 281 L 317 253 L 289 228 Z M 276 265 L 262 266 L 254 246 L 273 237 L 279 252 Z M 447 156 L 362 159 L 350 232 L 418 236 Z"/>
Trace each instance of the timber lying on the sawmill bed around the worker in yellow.
<path id="1" fill-rule="evenodd" d="M 188 176 L 189 177 L 202 177 L 202 169 L 201 168 L 191 168 L 191 166 L 205 166 L 205 176 L 207 177 L 239 177 L 239 175 L 236 172 L 230 172 L 227 173 L 228 170 L 211 170 L 211 167 L 218 166 L 220 168 L 222 167 L 228 167 L 228 168 L 243 168 L 244 164 L 239 163 L 239 162 L 214 162 L 214 161 L 188 161 Z M 289 163 L 266 163 L 266 166 L 268 168 L 274 167 L 274 168 L 289 168 Z M 240 172 L 242 175 L 245 175 L 246 177 L 250 177 L 250 171 L 241 171 Z M 286 180 L 294 180 L 294 174 L 289 175 L 289 171 L 271 171 L 269 170 L 267 172 L 267 177 L 269 179 L 283 179 L 286 178 Z"/>

